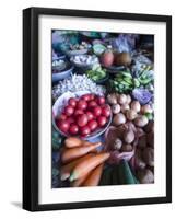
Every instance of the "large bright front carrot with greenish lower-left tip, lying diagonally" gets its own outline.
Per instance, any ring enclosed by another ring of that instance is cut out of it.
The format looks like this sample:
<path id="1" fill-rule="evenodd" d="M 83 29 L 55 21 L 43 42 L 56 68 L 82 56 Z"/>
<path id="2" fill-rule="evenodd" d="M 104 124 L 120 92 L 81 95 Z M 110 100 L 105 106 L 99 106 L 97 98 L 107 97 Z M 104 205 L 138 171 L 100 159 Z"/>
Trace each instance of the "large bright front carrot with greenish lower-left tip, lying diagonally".
<path id="1" fill-rule="evenodd" d="M 74 180 L 78 180 L 78 178 L 86 175 L 86 173 L 94 170 L 97 165 L 105 162 L 108 158 L 109 158 L 108 152 L 106 152 L 106 153 L 102 152 L 92 158 L 87 158 L 86 160 L 84 160 L 75 165 L 69 180 L 72 182 Z"/>

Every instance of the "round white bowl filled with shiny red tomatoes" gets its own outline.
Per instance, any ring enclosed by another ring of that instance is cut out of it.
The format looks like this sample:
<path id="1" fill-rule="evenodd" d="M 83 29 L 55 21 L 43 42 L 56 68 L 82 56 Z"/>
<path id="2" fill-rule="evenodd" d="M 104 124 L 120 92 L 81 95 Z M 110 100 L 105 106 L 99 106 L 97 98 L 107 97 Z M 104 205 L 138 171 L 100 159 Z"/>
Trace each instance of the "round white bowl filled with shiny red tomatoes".
<path id="1" fill-rule="evenodd" d="M 93 139 L 106 131 L 112 111 L 105 97 L 81 91 L 67 92 L 52 106 L 52 124 L 61 135 Z"/>

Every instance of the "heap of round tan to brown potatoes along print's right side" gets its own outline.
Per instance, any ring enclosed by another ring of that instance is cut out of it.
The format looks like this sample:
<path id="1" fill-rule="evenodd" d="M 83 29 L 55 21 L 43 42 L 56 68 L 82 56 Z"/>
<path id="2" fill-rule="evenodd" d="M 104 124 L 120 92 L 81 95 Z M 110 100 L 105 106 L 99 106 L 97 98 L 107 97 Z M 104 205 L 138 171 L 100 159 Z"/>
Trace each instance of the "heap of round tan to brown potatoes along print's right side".
<path id="1" fill-rule="evenodd" d="M 132 101 L 129 94 L 113 93 L 107 95 L 107 102 L 112 106 L 114 114 L 113 125 L 119 129 L 127 127 L 122 131 L 122 142 L 120 135 L 114 148 L 122 151 L 131 151 L 136 147 L 134 168 L 140 183 L 148 184 L 154 182 L 154 122 L 149 120 L 146 114 L 153 114 L 150 104 L 141 105 L 138 101 Z M 130 124 L 130 126 L 129 126 Z M 122 148 L 124 147 L 124 148 Z"/>

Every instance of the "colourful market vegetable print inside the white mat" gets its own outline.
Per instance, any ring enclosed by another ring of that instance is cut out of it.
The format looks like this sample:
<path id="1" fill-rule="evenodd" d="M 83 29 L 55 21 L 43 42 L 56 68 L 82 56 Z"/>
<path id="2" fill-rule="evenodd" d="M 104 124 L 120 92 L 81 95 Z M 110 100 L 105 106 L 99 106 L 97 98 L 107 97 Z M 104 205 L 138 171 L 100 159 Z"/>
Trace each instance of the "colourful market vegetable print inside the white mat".
<path id="1" fill-rule="evenodd" d="M 52 188 L 154 183 L 153 35 L 52 31 Z"/>

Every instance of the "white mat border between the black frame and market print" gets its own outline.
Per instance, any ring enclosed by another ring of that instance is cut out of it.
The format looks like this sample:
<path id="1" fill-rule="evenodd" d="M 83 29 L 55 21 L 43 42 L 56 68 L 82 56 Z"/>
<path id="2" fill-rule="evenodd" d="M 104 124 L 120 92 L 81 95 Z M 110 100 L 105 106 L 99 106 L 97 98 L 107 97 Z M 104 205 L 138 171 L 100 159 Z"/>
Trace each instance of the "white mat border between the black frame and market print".
<path id="1" fill-rule="evenodd" d="M 166 23 L 109 19 L 39 15 L 39 124 L 38 203 L 61 204 L 89 200 L 162 197 L 166 195 Z M 155 183 L 87 188 L 51 189 L 51 30 L 154 34 L 155 66 Z M 161 46 L 162 45 L 162 46 Z"/>

